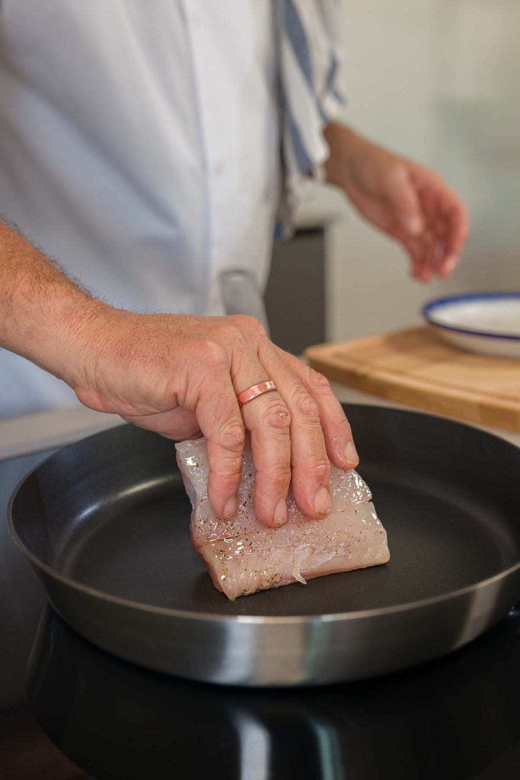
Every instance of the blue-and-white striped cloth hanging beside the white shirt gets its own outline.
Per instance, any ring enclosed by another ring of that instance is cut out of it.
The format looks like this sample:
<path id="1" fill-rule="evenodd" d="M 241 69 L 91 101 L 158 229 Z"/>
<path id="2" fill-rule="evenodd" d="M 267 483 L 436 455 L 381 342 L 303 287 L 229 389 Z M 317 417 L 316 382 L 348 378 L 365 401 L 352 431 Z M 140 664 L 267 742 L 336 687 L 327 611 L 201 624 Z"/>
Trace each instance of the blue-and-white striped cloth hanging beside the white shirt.
<path id="1" fill-rule="evenodd" d="M 338 44 L 341 0 L 274 0 L 278 9 L 285 191 L 280 221 L 292 232 L 292 214 L 312 179 L 322 179 L 328 148 L 324 126 L 345 104 Z"/>

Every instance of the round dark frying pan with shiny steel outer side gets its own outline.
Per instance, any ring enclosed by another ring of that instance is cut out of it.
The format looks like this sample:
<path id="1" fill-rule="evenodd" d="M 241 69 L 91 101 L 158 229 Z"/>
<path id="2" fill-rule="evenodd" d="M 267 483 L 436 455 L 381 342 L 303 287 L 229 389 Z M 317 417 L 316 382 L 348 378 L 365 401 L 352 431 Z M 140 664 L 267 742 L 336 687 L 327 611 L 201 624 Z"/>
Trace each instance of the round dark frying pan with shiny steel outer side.
<path id="1" fill-rule="evenodd" d="M 12 495 L 9 529 L 65 622 L 148 668 L 286 686 L 430 661 L 520 599 L 520 449 L 421 413 L 345 412 L 386 566 L 228 601 L 191 547 L 173 442 L 129 425 L 37 466 Z"/>

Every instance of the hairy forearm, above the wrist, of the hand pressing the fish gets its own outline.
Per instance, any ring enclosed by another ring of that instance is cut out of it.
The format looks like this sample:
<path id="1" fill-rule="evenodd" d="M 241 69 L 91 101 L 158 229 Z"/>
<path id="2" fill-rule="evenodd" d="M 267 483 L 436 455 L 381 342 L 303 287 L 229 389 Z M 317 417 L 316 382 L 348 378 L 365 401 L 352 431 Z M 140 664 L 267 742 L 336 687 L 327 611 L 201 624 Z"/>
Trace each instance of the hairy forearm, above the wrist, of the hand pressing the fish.
<path id="1" fill-rule="evenodd" d="M 71 383 L 70 360 L 104 310 L 41 251 L 0 222 L 0 346 Z"/>

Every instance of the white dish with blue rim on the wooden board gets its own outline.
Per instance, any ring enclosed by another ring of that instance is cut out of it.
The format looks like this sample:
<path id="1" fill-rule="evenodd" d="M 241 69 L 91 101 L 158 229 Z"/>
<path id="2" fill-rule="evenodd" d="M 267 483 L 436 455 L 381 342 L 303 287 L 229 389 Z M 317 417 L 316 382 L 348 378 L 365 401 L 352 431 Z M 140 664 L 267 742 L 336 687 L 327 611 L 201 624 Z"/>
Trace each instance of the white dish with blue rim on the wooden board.
<path id="1" fill-rule="evenodd" d="M 451 346 L 520 359 L 520 292 L 436 298 L 423 307 L 423 316 Z"/>

